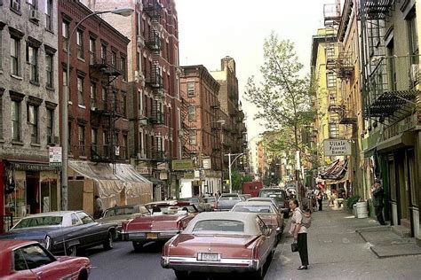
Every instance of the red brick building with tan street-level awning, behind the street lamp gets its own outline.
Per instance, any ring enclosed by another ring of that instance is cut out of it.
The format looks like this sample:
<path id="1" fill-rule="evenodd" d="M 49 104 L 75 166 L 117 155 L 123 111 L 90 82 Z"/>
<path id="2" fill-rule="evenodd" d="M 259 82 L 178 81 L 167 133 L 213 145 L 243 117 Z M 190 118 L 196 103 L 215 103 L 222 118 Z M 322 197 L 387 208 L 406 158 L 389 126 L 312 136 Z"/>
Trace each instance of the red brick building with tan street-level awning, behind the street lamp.
<path id="1" fill-rule="evenodd" d="M 59 1 L 60 99 L 68 84 L 69 36 L 90 13 L 79 1 Z M 92 212 L 94 194 L 105 207 L 151 199 L 152 183 L 129 164 L 129 42 L 104 19 L 92 16 L 77 28 L 70 45 L 69 209 Z M 134 177 L 123 177 L 128 174 Z"/>

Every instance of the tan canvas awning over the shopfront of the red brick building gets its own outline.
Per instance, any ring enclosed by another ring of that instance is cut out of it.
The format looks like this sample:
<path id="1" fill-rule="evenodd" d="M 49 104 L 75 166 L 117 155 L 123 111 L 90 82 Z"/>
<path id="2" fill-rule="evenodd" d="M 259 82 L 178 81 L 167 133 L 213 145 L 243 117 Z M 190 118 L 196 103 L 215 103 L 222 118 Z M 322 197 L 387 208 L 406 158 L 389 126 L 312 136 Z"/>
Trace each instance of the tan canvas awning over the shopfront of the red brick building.
<path id="1" fill-rule="evenodd" d="M 122 191 L 125 192 L 126 198 L 152 195 L 152 183 L 129 164 L 117 163 L 115 174 L 110 163 L 69 160 L 68 166 L 80 175 L 95 181 L 100 198 L 110 198 Z"/>

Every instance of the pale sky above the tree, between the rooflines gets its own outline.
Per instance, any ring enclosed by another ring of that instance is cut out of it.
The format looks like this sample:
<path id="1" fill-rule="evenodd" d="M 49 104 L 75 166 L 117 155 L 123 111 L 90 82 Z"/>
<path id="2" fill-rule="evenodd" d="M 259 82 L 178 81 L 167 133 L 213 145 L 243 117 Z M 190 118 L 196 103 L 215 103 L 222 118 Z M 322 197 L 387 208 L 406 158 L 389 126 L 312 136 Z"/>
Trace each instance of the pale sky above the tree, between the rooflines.
<path id="1" fill-rule="evenodd" d="M 254 120 L 255 105 L 243 98 L 244 85 L 259 75 L 263 42 L 272 31 L 296 43 L 299 60 L 310 69 L 312 35 L 323 25 L 323 4 L 334 0 L 175 0 L 179 14 L 181 66 L 220 69 L 220 59 L 235 59 L 249 140 L 265 131 Z"/>

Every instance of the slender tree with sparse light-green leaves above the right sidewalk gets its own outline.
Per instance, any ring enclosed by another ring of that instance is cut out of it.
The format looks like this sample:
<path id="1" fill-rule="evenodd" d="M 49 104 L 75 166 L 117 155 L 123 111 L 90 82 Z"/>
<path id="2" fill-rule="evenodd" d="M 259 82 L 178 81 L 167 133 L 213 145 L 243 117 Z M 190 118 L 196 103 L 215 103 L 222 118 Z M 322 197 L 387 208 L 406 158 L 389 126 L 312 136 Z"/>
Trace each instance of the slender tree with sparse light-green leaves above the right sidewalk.
<path id="1" fill-rule="evenodd" d="M 289 40 L 281 40 L 273 32 L 266 38 L 263 51 L 262 82 L 250 77 L 245 97 L 258 107 L 255 118 L 264 121 L 275 135 L 266 141 L 271 152 L 288 152 L 293 156 L 298 151 L 307 158 L 309 148 L 302 143 L 300 134 L 313 122 L 316 82 L 309 74 L 303 75 L 304 66 L 298 62 L 294 43 Z"/>

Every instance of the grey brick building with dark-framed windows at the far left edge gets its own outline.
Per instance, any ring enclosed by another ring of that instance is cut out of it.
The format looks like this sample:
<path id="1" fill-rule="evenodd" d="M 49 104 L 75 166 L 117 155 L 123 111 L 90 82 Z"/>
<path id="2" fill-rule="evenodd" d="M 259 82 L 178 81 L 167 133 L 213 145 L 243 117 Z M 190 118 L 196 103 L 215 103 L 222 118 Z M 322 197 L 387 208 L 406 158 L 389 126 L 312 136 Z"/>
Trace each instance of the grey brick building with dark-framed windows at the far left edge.
<path id="1" fill-rule="evenodd" d="M 57 2 L 2 1 L 0 15 L 0 217 L 58 210 Z"/>

